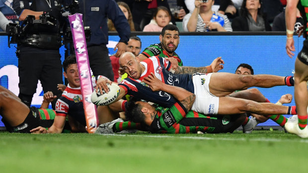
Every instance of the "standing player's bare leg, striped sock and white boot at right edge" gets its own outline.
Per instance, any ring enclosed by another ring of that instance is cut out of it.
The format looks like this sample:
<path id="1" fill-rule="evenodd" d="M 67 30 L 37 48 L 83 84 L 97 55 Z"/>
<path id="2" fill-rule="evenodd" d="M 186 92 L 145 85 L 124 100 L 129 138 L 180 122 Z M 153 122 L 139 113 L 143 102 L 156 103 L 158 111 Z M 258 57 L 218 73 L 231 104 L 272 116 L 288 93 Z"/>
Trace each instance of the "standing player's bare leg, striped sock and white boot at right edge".
<path id="1" fill-rule="evenodd" d="M 297 123 L 286 123 L 286 129 L 290 133 L 295 133 L 300 137 L 308 137 L 307 127 L 307 107 L 308 107 L 308 66 L 303 63 L 299 58 L 295 60 L 295 84 L 294 84 L 294 96 L 295 103 L 298 112 L 298 125 Z"/>

